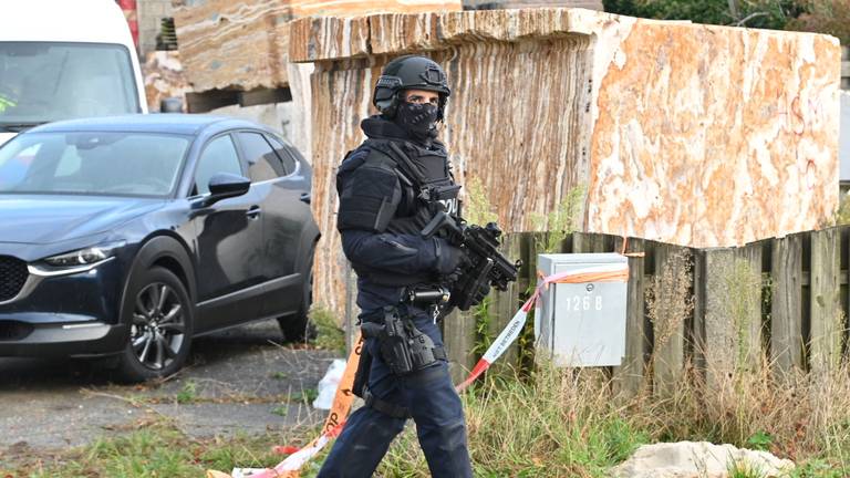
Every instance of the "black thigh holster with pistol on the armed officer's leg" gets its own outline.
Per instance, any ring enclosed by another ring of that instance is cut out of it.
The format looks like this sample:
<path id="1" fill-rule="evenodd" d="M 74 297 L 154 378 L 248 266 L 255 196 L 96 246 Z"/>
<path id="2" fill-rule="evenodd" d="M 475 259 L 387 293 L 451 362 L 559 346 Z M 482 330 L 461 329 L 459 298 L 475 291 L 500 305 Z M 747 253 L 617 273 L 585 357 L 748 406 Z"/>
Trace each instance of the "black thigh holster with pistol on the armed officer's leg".
<path id="1" fill-rule="evenodd" d="M 377 339 L 381 358 L 395 375 L 406 375 L 446 358 L 443 347 L 435 346 L 395 305 L 384 306 L 382 322 L 363 322 L 361 331 L 364 337 Z M 361 365 L 362 361 L 361 356 Z"/>

